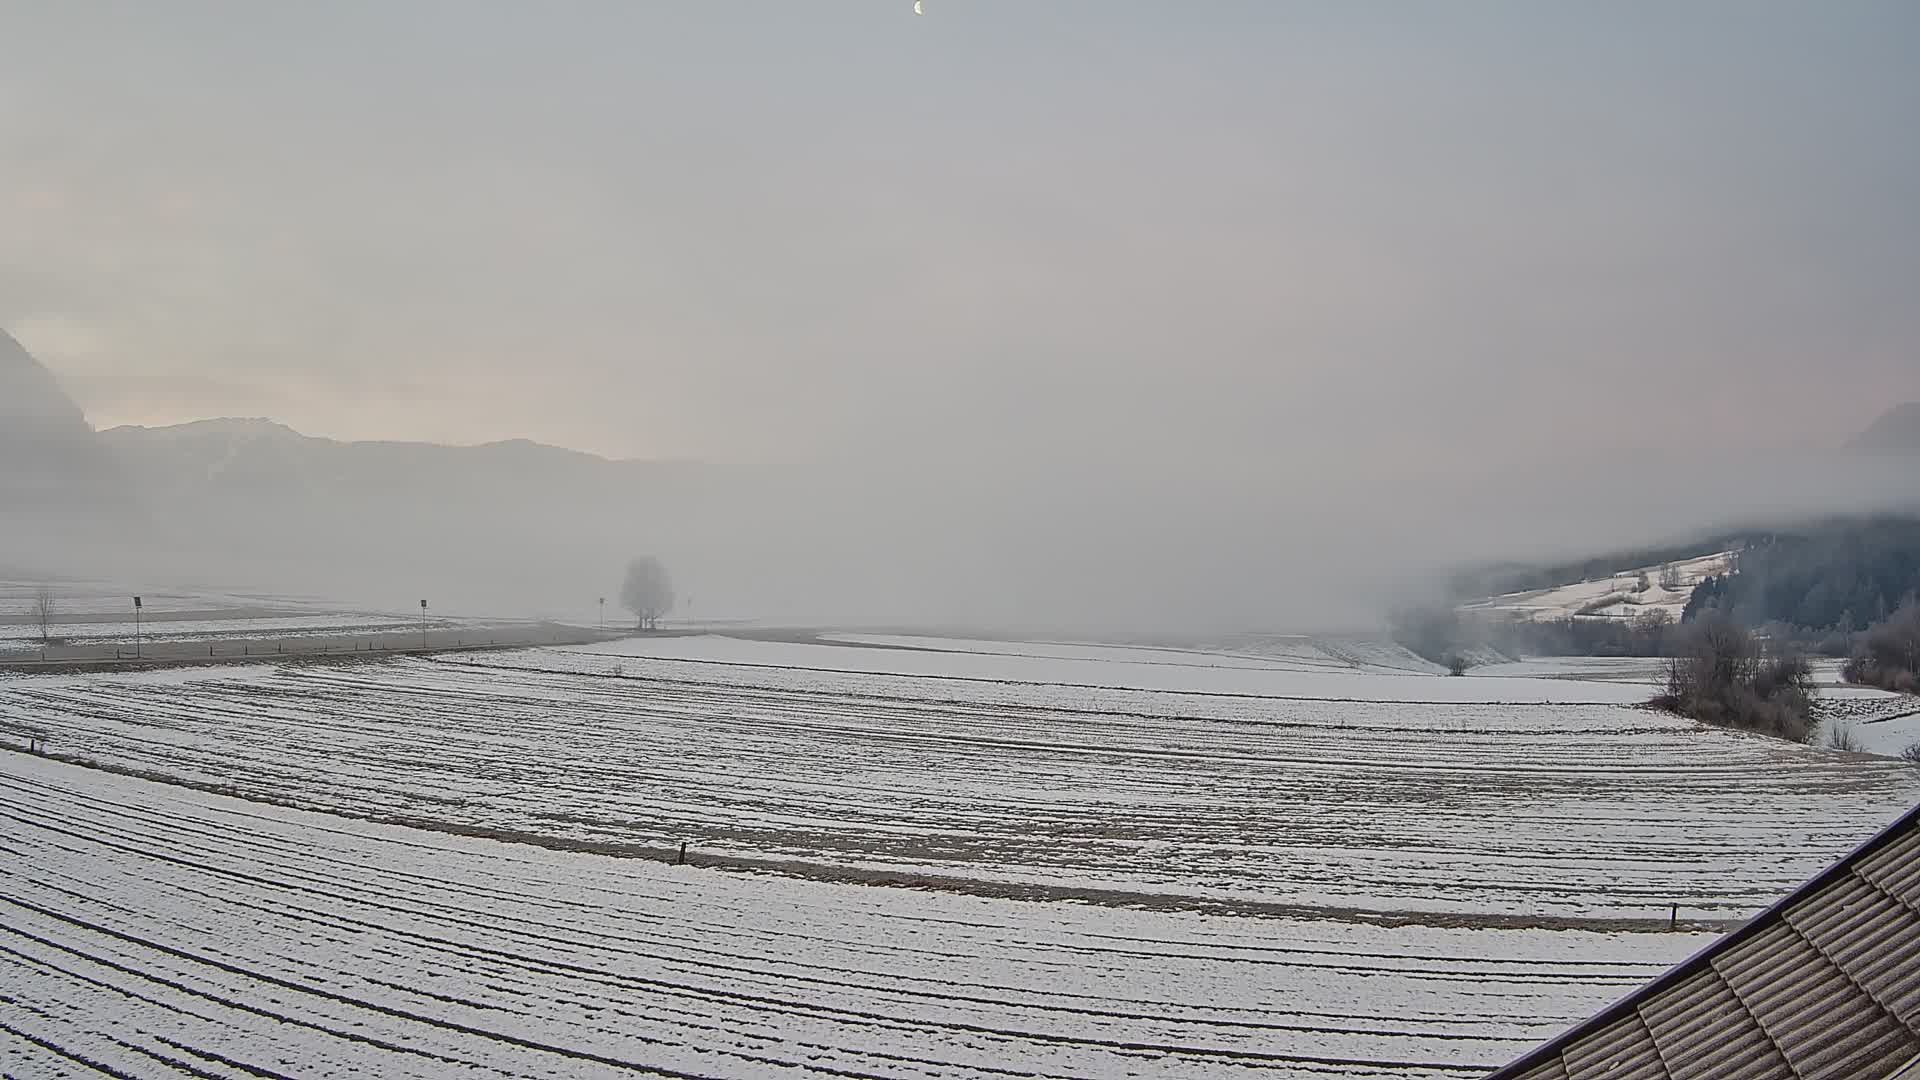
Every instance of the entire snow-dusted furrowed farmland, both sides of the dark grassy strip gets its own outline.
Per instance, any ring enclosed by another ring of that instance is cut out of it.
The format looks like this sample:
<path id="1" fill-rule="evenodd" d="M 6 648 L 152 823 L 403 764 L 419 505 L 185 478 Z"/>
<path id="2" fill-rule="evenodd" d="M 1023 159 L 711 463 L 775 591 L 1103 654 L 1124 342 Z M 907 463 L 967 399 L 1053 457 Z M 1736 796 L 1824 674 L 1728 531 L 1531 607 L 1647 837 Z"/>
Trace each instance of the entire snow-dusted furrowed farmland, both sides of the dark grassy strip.
<path id="1" fill-rule="evenodd" d="M 1920 799 L 1620 675 L 662 636 L 0 676 L 0 744 L 246 796 L 0 749 L 0 1072 L 1471 1076 L 1699 947 L 1668 905 L 1749 915 Z"/>

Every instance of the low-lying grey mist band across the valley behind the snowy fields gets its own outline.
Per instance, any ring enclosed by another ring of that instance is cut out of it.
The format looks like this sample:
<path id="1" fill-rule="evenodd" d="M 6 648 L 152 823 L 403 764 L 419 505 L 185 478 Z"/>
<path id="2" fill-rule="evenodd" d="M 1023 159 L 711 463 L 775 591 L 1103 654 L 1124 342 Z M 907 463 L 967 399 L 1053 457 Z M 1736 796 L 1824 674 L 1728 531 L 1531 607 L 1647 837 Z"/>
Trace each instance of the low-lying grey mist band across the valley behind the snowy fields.
<path id="1" fill-rule="evenodd" d="M 98 436 L 115 490 L 10 511 L 6 571 L 589 619 L 653 553 L 674 617 L 1306 632 L 1377 626 L 1469 563 L 1920 502 L 1907 461 L 1837 452 L 1492 465 L 1340 444 L 1229 459 L 876 446 L 701 465 L 282 430 L 184 452 L 161 434 Z"/>

